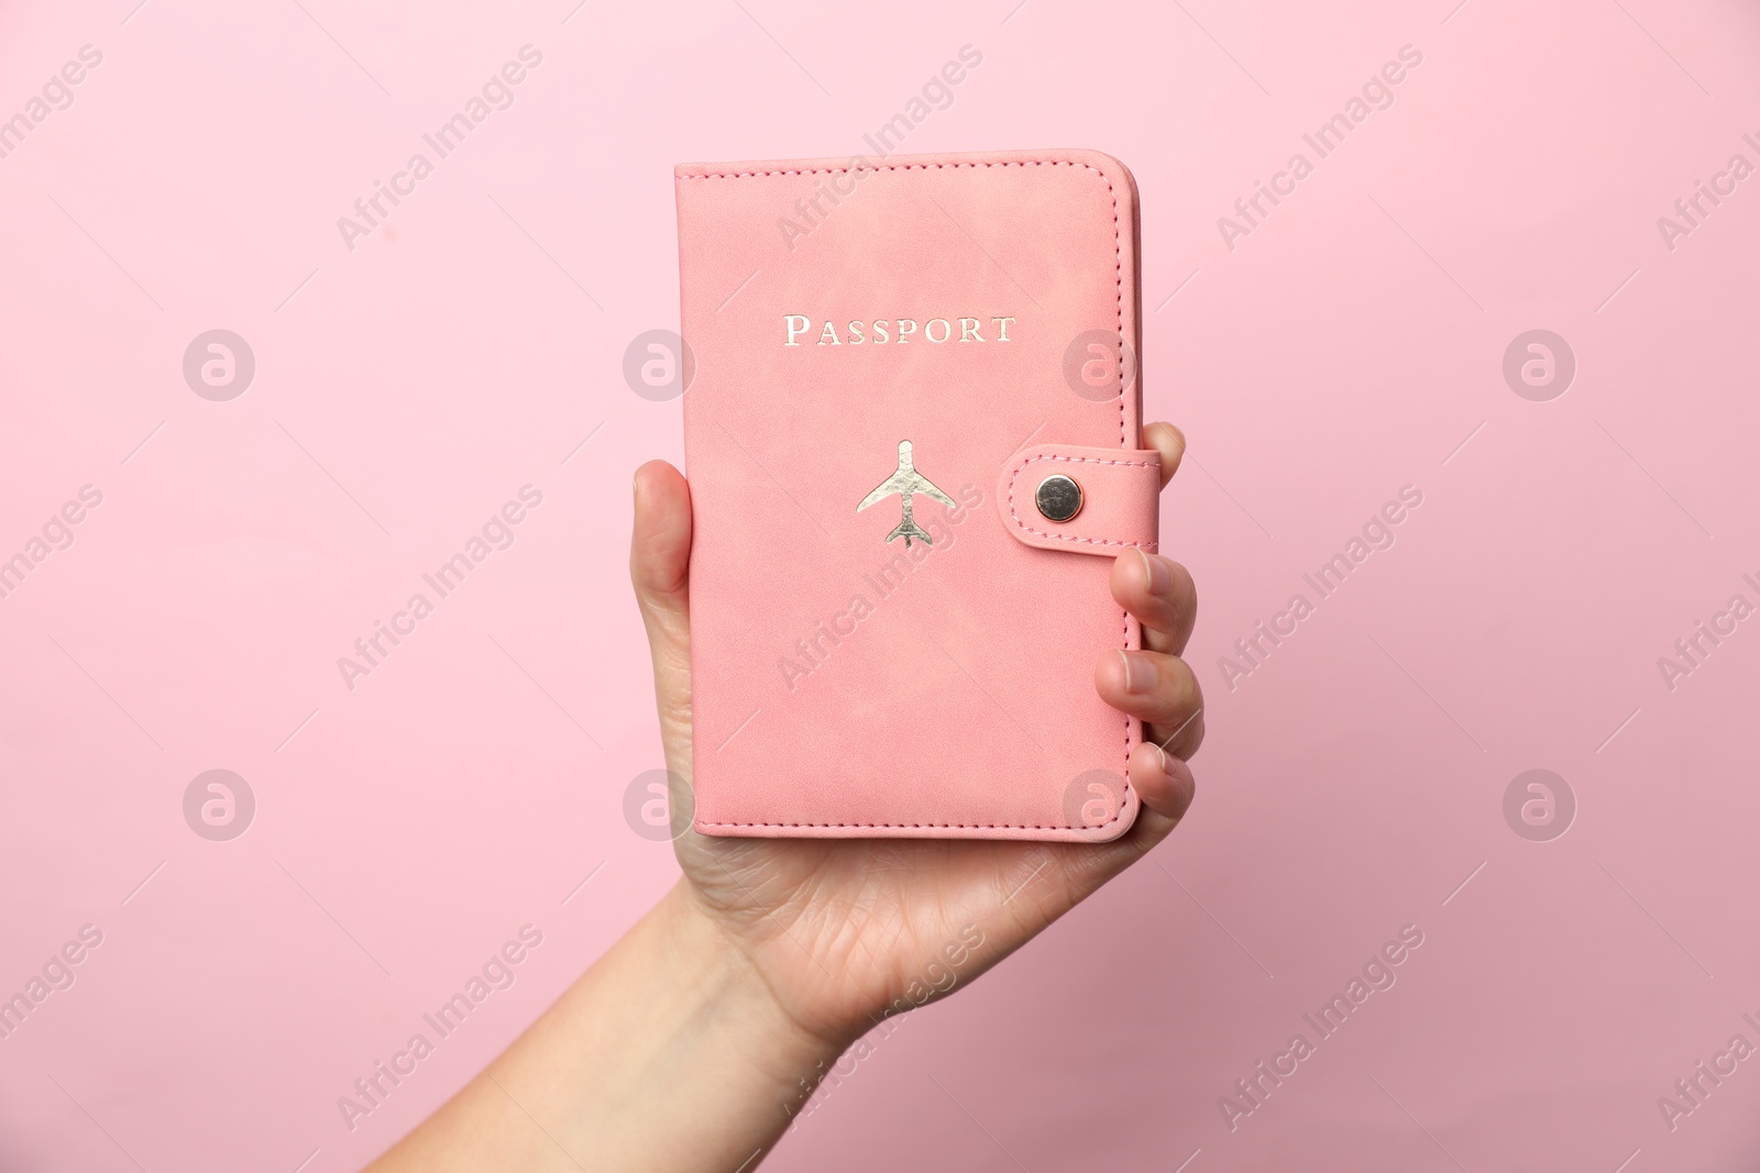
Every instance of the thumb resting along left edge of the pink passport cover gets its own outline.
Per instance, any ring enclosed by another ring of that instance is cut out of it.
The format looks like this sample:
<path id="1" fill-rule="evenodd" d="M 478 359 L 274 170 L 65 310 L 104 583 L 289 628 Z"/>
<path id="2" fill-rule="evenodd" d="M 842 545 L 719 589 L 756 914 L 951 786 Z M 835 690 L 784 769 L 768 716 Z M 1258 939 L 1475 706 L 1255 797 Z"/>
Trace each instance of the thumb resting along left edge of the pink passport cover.
<path id="1" fill-rule="evenodd" d="M 674 735 L 690 730 L 690 485 L 665 461 L 635 470 L 630 582 L 648 628 L 660 725 L 671 749 Z"/>

